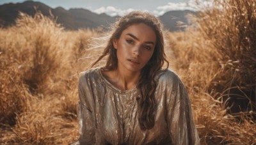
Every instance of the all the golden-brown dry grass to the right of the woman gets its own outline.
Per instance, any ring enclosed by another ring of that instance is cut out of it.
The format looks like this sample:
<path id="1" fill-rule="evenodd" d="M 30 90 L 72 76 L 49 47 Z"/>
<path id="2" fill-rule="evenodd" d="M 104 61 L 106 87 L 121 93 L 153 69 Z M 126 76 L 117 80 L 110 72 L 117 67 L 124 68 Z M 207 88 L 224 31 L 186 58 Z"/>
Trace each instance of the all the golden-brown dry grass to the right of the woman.
<path id="1" fill-rule="evenodd" d="M 175 69 L 188 88 L 202 144 L 255 144 L 256 2 L 215 3 L 186 32 L 170 33 Z M 246 106 L 236 106 L 239 101 Z"/>

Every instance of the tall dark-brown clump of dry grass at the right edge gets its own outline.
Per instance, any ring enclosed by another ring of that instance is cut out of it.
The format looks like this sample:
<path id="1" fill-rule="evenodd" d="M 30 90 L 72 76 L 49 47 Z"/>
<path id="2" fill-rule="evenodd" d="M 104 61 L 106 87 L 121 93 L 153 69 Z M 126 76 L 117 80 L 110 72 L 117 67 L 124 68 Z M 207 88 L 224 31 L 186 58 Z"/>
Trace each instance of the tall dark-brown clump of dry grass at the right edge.
<path id="1" fill-rule="evenodd" d="M 214 4 L 196 20 L 200 31 L 221 54 L 223 68 L 211 88 L 220 93 L 216 97 L 225 101 L 230 113 L 256 111 L 256 1 Z"/>

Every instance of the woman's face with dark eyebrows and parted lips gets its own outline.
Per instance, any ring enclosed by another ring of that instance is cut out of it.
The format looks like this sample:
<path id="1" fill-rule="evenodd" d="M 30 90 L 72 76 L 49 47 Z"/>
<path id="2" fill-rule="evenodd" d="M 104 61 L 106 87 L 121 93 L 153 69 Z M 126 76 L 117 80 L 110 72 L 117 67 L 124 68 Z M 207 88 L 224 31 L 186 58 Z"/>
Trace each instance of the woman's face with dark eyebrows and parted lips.
<path id="1" fill-rule="evenodd" d="M 119 39 L 113 41 L 118 59 L 118 69 L 138 72 L 154 53 L 156 34 L 146 24 L 133 24 L 125 29 Z"/>

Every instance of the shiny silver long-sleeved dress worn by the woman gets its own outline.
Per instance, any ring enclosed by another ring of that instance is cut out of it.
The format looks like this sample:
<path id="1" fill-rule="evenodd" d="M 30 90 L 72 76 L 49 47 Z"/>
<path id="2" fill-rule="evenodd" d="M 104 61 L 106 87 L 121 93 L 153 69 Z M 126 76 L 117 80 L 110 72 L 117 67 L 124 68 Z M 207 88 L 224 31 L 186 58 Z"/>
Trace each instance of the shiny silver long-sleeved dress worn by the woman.
<path id="1" fill-rule="evenodd" d="M 138 122 L 137 88 L 119 90 L 100 67 L 79 79 L 79 140 L 74 144 L 200 144 L 186 88 L 168 69 L 156 76 L 156 118 L 150 130 Z"/>

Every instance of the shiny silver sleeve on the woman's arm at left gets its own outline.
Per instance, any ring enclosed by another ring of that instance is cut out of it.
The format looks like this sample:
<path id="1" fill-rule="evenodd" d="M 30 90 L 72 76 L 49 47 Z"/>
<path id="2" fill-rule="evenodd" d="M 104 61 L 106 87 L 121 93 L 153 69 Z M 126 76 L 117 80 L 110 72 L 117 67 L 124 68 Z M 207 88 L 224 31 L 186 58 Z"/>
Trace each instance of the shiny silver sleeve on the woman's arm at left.
<path id="1" fill-rule="evenodd" d="M 86 88 L 86 79 L 81 76 L 78 84 L 78 94 L 80 102 L 77 103 L 77 117 L 79 122 L 79 144 L 94 144 L 95 143 L 95 127 L 92 115 L 92 107 L 89 102 L 92 102 L 88 96 Z"/>

